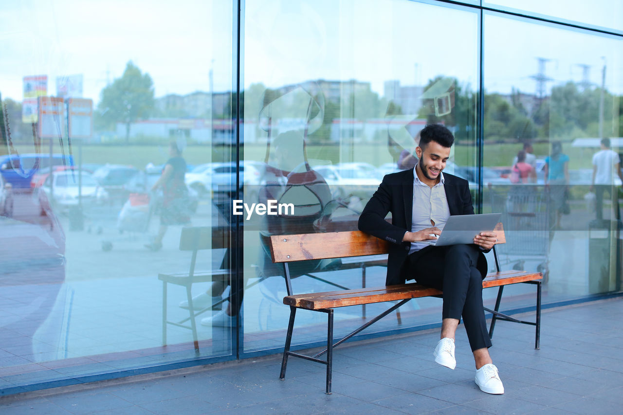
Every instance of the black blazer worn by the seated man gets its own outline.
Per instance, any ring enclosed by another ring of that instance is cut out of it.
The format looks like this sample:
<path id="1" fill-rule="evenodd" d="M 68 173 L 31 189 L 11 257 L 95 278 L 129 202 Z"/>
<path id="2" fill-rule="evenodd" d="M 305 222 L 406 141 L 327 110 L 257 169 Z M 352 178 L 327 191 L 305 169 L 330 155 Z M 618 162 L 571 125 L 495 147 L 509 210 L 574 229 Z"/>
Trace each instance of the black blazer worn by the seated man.
<path id="1" fill-rule="evenodd" d="M 444 173 L 444 179 L 450 215 L 473 214 L 472 194 L 467 180 L 447 173 Z M 411 244 L 402 242 L 402 237 L 404 232 L 411 231 L 412 207 L 413 169 L 409 169 L 386 175 L 359 216 L 359 231 L 391 242 L 386 285 L 404 284 L 407 279 L 417 279 L 416 275 L 407 275 L 407 270 L 402 268 L 411 249 Z M 385 220 L 389 212 L 391 223 Z M 478 256 L 477 267 L 484 278 L 487 275 L 487 259 L 483 253 Z"/>

